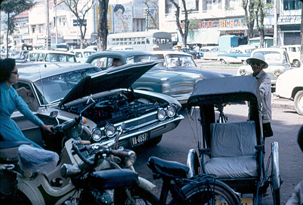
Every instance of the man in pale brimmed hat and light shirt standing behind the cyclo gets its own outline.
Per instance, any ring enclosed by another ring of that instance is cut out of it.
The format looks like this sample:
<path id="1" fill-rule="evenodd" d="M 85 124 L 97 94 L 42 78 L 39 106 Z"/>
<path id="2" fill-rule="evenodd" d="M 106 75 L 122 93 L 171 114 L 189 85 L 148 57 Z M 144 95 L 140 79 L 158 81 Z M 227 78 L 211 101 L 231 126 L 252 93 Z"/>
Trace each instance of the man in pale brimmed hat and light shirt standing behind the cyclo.
<path id="1" fill-rule="evenodd" d="M 263 70 L 268 67 L 265 62 L 265 57 L 261 53 L 254 53 L 251 58 L 246 62 L 251 66 L 253 73 L 251 74 L 257 79 L 257 86 L 259 88 L 260 96 L 262 99 L 262 124 L 263 124 L 263 137 L 271 137 L 274 135 L 271 120 L 272 120 L 272 94 L 271 94 L 271 78 Z"/>

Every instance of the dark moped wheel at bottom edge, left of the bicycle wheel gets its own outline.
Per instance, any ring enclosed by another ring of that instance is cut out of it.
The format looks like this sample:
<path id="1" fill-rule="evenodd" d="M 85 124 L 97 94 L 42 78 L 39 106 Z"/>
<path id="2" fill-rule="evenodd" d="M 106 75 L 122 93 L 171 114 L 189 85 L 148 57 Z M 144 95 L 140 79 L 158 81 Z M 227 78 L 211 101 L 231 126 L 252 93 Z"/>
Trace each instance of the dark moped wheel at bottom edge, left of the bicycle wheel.
<path id="1" fill-rule="evenodd" d="M 135 204 L 138 205 L 158 204 L 159 199 L 154 194 L 146 191 L 141 187 L 133 187 L 133 188 L 129 188 L 129 190 L 131 191 Z M 127 197 L 124 189 L 118 189 L 118 190 L 115 189 L 114 201 L 115 201 L 115 205 L 132 204 L 131 200 L 129 200 L 129 198 Z"/>

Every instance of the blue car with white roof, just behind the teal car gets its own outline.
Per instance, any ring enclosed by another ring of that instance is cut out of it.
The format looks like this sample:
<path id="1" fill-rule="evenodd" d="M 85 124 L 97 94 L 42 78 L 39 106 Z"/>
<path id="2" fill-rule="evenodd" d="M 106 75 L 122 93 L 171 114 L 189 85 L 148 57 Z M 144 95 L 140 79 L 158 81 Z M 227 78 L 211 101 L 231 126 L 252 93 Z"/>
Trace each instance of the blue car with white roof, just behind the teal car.
<path id="1" fill-rule="evenodd" d="M 193 60 L 192 55 L 177 51 L 152 51 L 159 59 L 165 60 L 163 67 L 169 71 L 201 73 L 204 79 L 224 77 L 224 75 L 201 69 Z"/>

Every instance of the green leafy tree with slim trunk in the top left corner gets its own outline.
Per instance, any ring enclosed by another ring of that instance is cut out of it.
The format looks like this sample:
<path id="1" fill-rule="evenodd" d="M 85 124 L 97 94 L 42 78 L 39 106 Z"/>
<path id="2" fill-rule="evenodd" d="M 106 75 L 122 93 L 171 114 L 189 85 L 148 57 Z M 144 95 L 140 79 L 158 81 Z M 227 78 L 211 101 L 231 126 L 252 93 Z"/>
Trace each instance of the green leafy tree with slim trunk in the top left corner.
<path id="1" fill-rule="evenodd" d="M 5 24 L 7 25 L 7 50 L 6 55 L 9 56 L 9 35 L 12 35 L 16 29 L 16 20 L 11 18 L 12 16 L 16 16 L 34 6 L 34 2 L 32 0 L 4 0 L 1 3 L 1 11 L 5 12 L 8 15 L 7 20 L 5 20 Z"/>

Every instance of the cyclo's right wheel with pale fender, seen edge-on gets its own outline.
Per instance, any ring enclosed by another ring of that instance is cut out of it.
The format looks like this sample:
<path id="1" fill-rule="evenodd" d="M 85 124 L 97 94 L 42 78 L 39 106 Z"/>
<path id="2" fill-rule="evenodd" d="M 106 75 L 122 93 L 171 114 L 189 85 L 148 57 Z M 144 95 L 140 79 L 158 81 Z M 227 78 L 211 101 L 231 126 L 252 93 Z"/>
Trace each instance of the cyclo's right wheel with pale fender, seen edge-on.
<path id="1" fill-rule="evenodd" d="M 271 189 L 273 194 L 274 205 L 280 205 L 280 169 L 279 169 L 279 150 L 278 142 L 272 142 L 272 175 Z"/>

